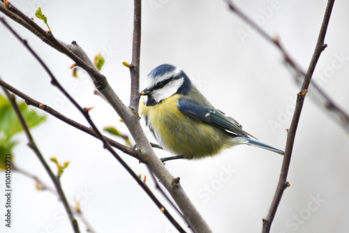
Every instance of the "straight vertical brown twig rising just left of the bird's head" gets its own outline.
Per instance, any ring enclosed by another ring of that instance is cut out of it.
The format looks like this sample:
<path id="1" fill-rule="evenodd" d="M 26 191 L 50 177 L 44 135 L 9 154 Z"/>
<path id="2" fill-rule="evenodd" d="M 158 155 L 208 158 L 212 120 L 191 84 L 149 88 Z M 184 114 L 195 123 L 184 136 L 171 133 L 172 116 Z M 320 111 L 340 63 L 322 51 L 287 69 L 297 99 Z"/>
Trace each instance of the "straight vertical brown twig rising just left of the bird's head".
<path id="1" fill-rule="evenodd" d="M 132 63 L 130 66 L 131 95 L 130 106 L 138 112 L 140 101 L 140 43 L 142 24 L 142 0 L 134 0 Z"/>

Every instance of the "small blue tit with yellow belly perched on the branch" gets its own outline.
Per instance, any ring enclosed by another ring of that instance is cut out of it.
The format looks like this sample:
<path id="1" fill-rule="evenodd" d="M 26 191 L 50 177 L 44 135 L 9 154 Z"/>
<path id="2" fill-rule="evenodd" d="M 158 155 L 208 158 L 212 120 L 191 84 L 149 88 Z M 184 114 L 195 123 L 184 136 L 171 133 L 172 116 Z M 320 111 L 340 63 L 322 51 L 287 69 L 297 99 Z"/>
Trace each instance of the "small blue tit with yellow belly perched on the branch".
<path id="1" fill-rule="evenodd" d="M 183 70 L 163 64 L 152 70 L 140 93 L 140 116 L 163 147 L 175 156 L 198 159 L 214 156 L 239 144 L 257 146 L 283 155 L 242 130 L 231 117 L 212 106 Z"/>

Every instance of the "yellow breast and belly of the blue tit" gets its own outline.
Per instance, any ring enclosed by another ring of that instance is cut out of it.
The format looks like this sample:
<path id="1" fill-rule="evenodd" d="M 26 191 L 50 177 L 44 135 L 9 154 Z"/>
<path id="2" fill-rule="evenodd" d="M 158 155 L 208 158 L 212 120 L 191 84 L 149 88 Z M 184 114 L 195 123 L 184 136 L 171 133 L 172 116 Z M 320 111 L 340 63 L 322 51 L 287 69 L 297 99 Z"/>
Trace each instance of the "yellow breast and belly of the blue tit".
<path id="1" fill-rule="evenodd" d="M 223 130 L 195 121 L 179 111 L 179 98 L 175 94 L 154 106 L 146 106 L 140 100 L 140 116 L 147 117 L 149 128 L 164 149 L 186 158 L 202 158 L 230 147 Z"/>

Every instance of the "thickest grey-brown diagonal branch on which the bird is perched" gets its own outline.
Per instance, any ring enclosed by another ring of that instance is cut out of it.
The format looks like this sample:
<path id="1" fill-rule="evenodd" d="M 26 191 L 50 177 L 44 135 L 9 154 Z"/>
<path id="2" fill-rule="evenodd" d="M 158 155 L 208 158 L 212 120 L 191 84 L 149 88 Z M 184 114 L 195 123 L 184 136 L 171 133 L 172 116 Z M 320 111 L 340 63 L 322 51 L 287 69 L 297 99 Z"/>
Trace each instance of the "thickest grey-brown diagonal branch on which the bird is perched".
<path id="1" fill-rule="evenodd" d="M 0 6 L 1 5 L 3 5 L 2 2 L 0 2 Z M 6 14 L 6 11 L 8 11 L 8 9 L 0 7 L 0 11 Z M 23 20 L 29 25 L 36 24 L 28 17 L 24 17 Z M 38 30 L 43 31 L 42 29 Z M 184 213 L 184 216 L 193 228 L 193 231 L 211 232 L 209 226 L 202 218 L 198 210 L 195 208 L 193 203 L 189 200 L 181 185 L 177 184 L 176 186 L 172 186 L 174 176 L 170 174 L 170 172 L 163 165 L 163 163 L 161 163 L 161 161 L 158 159 L 153 149 L 151 148 L 151 145 L 149 144 L 149 141 L 147 140 L 147 137 L 142 130 L 142 126 L 140 126 L 138 114 L 135 114 L 135 112 L 130 110 L 124 105 L 124 103 L 122 103 L 119 96 L 114 93 L 114 90 L 107 83 L 104 75 L 101 75 L 101 73 L 98 72 L 93 63 L 92 65 L 89 65 L 91 62 L 89 62 L 90 60 L 88 57 L 83 56 L 83 54 L 85 54 L 83 50 L 79 46 L 77 46 L 76 43 L 72 43 L 66 46 L 63 45 L 63 43 L 54 38 L 51 33 L 45 32 L 45 35 L 41 39 L 44 39 L 45 42 L 49 40 L 49 45 L 54 45 L 59 52 L 66 54 L 68 57 L 70 57 L 70 59 L 73 59 L 73 61 L 75 61 L 77 66 L 80 66 L 82 69 L 87 71 L 87 73 L 89 73 L 90 77 L 94 81 L 96 89 L 98 89 L 98 91 L 100 91 L 103 96 L 105 96 L 110 105 L 114 108 L 117 114 L 119 114 L 119 117 L 124 121 L 133 137 L 133 140 L 135 140 L 138 149 L 142 152 L 143 160 L 147 161 L 147 165 L 149 165 L 151 171 L 168 190 L 176 204 L 179 206 L 181 212 Z"/>

